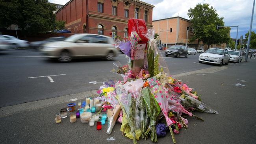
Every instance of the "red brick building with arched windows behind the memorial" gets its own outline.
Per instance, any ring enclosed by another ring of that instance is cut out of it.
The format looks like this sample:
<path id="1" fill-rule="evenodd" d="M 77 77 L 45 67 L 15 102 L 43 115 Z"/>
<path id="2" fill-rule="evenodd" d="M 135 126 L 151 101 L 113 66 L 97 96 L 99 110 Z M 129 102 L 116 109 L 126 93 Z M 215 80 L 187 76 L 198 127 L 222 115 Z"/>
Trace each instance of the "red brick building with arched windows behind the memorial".
<path id="1" fill-rule="evenodd" d="M 152 5 L 139 0 L 70 0 L 56 12 L 72 33 L 126 37 L 129 18 L 144 19 L 152 28 Z"/>

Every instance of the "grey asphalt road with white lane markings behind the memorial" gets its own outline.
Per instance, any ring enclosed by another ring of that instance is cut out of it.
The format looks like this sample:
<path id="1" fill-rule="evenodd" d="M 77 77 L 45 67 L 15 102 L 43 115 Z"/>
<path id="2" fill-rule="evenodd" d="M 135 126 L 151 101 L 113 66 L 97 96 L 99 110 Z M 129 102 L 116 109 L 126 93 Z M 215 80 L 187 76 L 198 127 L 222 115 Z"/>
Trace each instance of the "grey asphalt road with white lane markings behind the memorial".
<path id="1" fill-rule="evenodd" d="M 164 59 L 171 75 L 215 66 L 198 63 L 198 54 Z M 124 54 L 115 61 L 127 63 Z M 0 52 L 0 107 L 96 90 L 103 81 L 121 79 L 111 72 L 115 61 L 78 59 L 58 63 L 35 50 Z M 89 83 L 92 81 L 96 84 Z"/>

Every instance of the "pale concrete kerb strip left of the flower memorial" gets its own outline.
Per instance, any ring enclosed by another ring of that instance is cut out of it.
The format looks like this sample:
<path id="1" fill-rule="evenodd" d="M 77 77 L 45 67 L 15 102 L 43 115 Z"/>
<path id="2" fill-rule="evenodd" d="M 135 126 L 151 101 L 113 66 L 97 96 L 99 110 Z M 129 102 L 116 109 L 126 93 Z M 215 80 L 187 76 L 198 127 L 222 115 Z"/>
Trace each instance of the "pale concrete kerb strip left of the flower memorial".
<path id="1" fill-rule="evenodd" d="M 53 106 L 56 104 L 69 103 L 69 102 L 72 102 L 72 99 L 85 100 L 85 97 L 93 97 L 93 96 L 96 96 L 96 94 L 97 94 L 96 90 L 91 90 L 91 91 L 81 92 L 77 94 L 70 94 L 66 96 L 59 96 L 56 98 L 49 98 L 45 100 L 38 100 L 35 102 L 27 102 L 27 103 L 21 103 L 18 105 L 2 107 L 0 108 L 0 117 L 20 113 L 21 111 L 32 111 L 35 109 Z"/>

